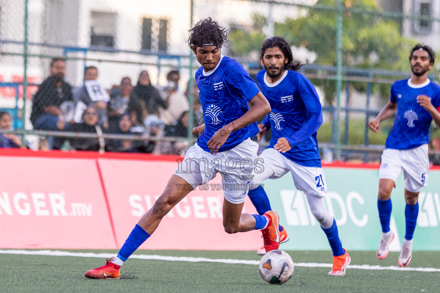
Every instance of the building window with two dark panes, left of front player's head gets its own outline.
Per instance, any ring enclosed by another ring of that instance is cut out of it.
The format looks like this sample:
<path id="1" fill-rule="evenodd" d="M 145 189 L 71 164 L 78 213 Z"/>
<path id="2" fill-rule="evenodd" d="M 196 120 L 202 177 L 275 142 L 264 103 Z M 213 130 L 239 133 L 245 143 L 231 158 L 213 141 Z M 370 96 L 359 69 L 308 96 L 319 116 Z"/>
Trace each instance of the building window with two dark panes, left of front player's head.
<path id="1" fill-rule="evenodd" d="M 143 18 L 141 49 L 166 53 L 168 49 L 168 20 Z"/>

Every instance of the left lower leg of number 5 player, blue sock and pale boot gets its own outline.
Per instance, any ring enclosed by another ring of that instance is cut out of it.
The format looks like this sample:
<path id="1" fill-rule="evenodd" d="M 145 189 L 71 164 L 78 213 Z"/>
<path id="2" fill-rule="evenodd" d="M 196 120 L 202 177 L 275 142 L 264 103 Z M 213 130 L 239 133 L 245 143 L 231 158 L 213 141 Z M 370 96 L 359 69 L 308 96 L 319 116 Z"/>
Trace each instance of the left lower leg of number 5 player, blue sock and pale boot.
<path id="1" fill-rule="evenodd" d="M 382 236 L 378 250 L 376 251 L 376 257 L 380 260 L 388 256 L 389 245 L 395 237 L 389 228 L 392 209 L 390 199 L 392 188 L 394 188 L 394 181 L 392 179 L 379 179 L 378 210 L 382 225 Z"/>

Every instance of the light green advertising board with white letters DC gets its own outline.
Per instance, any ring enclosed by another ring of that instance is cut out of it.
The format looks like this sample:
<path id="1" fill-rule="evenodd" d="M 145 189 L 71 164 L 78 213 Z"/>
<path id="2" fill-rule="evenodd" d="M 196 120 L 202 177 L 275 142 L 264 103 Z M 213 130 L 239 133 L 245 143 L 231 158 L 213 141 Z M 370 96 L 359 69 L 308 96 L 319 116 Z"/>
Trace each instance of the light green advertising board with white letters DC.
<path id="1" fill-rule="evenodd" d="M 327 210 L 337 220 L 342 245 L 347 250 L 377 250 L 381 225 L 377 209 L 378 169 L 324 167 Z M 306 197 L 293 184 L 290 173 L 263 181 L 273 210 L 290 236 L 283 250 L 329 250 L 319 223 L 313 217 Z M 390 228 L 396 239 L 391 251 L 400 251 L 405 235 L 403 174 L 391 194 Z M 430 170 L 428 187 L 419 195 L 419 213 L 413 250 L 440 250 L 440 171 Z"/>

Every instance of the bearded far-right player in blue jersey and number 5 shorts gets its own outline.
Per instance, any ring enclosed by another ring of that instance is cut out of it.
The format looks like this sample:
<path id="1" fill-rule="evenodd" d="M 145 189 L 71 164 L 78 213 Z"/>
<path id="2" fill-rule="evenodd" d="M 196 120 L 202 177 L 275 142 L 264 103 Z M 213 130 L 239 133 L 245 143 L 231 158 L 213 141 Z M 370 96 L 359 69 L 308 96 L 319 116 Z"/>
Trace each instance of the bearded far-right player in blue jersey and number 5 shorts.
<path id="1" fill-rule="evenodd" d="M 431 47 L 417 44 L 412 48 L 411 78 L 393 83 L 388 104 L 369 123 L 371 130 L 379 132 L 380 123 L 396 113 L 379 169 L 378 210 L 382 237 L 376 256 L 380 260 L 387 257 L 389 244 L 394 239 L 389 228 L 392 209 L 390 196 L 403 170 L 406 231 L 397 260 L 400 267 L 406 267 L 411 262 L 413 234 L 418 216 L 418 194 L 422 186 L 428 185 L 429 126 L 432 119 L 440 126 L 440 86 L 428 78 L 434 58 Z"/>

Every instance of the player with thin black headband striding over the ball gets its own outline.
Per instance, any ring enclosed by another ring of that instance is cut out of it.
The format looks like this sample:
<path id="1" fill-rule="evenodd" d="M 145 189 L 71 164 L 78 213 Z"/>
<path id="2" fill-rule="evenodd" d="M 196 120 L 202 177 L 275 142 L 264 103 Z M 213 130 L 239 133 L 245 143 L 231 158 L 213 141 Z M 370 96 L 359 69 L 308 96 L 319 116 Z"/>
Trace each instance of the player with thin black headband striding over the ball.
<path id="1" fill-rule="evenodd" d="M 162 217 L 196 186 L 214 178 L 217 172 L 222 175 L 223 186 L 231 186 L 232 182 L 249 188 L 248 177 L 253 174 L 249 161 L 257 158 L 258 149 L 257 143 L 250 137 L 258 133 L 256 121 L 271 111 L 270 105 L 243 66 L 220 54 L 222 45 L 227 42 L 224 27 L 206 18 L 194 25 L 190 32 L 188 44 L 202 65 L 195 74 L 195 80 L 205 124 L 194 127 L 193 134 L 200 134 L 197 143 L 185 154 L 162 195 L 141 217 L 117 256 L 107 259 L 106 265 L 86 272 L 88 278 L 119 278 L 121 265 L 156 230 Z M 248 102 L 253 105 L 251 109 Z M 228 159 L 246 162 L 246 166 L 231 167 Z M 264 215 L 242 213 L 246 189 L 224 189 L 224 230 L 236 233 L 260 229 L 264 248 L 278 249 L 278 214 L 273 211 Z M 188 237 L 199 235 L 197 227 L 187 229 Z"/>

